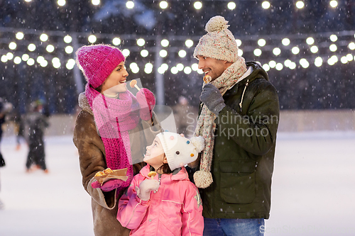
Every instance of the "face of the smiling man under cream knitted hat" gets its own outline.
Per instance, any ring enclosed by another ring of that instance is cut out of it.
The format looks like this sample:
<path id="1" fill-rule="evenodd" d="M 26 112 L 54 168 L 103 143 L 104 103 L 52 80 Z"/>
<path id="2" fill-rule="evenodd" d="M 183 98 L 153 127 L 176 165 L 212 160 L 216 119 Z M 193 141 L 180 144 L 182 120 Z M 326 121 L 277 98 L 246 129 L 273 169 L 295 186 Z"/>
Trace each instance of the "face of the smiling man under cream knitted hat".
<path id="1" fill-rule="evenodd" d="M 202 69 L 204 75 L 209 75 L 211 81 L 221 76 L 224 70 L 228 67 L 226 61 L 217 60 L 211 57 L 197 56 L 199 60 L 199 69 Z"/>

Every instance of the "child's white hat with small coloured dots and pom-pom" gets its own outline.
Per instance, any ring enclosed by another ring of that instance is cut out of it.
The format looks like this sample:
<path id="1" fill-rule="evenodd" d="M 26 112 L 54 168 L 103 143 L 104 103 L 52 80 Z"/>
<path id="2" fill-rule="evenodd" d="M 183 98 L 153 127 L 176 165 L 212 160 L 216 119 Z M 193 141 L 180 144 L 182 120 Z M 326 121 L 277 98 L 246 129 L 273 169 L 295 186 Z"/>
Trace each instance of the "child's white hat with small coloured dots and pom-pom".
<path id="1" fill-rule="evenodd" d="M 182 134 L 163 132 L 159 133 L 157 137 L 163 145 L 166 159 L 172 171 L 194 162 L 198 153 L 204 149 L 204 138 L 201 136 L 191 137 L 189 140 Z"/>

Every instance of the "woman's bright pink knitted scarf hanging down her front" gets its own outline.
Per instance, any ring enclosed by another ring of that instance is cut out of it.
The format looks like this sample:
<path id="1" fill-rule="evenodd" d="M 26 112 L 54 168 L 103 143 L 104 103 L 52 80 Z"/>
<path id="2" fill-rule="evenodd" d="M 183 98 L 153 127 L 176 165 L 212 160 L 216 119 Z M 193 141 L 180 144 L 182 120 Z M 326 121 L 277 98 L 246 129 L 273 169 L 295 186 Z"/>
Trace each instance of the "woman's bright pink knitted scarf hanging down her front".
<path id="1" fill-rule="evenodd" d="M 135 128 L 139 121 L 139 103 L 128 90 L 120 93 L 118 99 L 108 98 L 89 86 L 89 83 L 85 87 L 85 96 L 94 113 L 98 133 L 104 142 L 107 167 L 128 168 L 129 179 L 120 188 L 124 189 L 133 178 L 128 130 Z"/>

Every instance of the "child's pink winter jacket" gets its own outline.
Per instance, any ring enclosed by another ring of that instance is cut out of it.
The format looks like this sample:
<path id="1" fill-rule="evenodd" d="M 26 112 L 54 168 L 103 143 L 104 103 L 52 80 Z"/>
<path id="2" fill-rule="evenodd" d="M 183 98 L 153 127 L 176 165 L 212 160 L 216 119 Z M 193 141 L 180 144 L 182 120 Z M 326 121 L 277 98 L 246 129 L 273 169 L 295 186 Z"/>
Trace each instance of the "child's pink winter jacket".
<path id="1" fill-rule="evenodd" d="M 136 186 L 148 177 L 149 165 L 133 177 L 127 192 L 119 199 L 117 220 L 131 229 L 131 235 L 202 235 L 204 221 L 202 202 L 195 184 L 190 182 L 186 169 L 177 174 L 163 174 L 156 193 L 142 201 Z M 158 180 L 158 174 L 154 177 Z"/>

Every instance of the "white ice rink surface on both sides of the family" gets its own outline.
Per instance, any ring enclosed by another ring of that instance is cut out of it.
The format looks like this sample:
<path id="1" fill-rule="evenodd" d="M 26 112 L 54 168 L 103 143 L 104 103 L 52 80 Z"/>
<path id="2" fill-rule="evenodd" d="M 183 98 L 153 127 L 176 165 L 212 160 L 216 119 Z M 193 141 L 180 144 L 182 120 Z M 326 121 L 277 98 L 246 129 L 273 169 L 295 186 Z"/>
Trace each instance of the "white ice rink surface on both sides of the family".
<path id="1" fill-rule="evenodd" d="M 45 137 L 49 174 L 25 172 L 28 148 L 1 142 L 1 236 L 94 235 L 72 137 Z M 355 235 L 355 133 L 279 133 L 265 235 Z"/>

